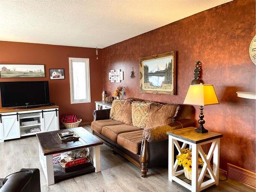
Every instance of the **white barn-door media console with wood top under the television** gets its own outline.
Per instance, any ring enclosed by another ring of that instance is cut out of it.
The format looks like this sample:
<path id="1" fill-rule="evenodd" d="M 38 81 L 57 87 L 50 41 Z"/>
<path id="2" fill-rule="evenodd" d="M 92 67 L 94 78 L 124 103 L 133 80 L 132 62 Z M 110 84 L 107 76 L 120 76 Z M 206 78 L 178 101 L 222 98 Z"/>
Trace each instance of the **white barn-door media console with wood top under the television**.
<path id="1" fill-rule="evenodd" d="M 59 130 L 59 107 L 0 108 L 0 142 L 36 133 Z"/>

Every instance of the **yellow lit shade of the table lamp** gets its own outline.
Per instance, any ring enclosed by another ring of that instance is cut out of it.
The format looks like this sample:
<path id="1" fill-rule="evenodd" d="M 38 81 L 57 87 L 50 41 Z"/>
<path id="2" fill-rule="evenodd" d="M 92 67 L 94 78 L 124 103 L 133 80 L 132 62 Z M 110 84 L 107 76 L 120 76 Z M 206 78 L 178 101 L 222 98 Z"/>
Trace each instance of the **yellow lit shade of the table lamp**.
<path id="1" fill-rule="evenodd" d="M 210 105 L 218 104 L 214 86 L 212 84 L 194 84 L 189 86 L 184 104 Z"/>

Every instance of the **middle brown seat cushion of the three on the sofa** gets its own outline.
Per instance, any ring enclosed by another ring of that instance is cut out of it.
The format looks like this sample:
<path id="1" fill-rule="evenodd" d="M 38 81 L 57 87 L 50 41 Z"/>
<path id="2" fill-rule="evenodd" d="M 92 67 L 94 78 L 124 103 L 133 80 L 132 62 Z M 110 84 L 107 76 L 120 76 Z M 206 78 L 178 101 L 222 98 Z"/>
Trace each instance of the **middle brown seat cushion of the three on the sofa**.
<path id="1" fill-rule="evenodd" d="M 119 124 L 119 125 L 110 125 L 103 126 L 101 134 L 111 141 L 117 143 L 117 136 L 120 133 L 133 132 L 141 130 L 138 127 L 127 125 L 127 124 Z"/>

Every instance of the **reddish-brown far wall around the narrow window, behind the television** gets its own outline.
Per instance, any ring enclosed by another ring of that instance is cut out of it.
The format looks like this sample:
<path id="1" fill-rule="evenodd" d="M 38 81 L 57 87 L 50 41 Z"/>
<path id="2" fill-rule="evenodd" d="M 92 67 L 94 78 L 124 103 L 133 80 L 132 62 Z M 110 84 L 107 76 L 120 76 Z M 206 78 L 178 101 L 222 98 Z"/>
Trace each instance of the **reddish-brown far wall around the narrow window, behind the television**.
<path id="1" fill-rule="evenodd" d="M 90 59 L 91 103 L 70 102 L 69 57 Z M 83 122 L 93 120 L 94 101 L 100 100 L 102 93 L 102 79 L 99 78 L 102 76 L 101 50 L 96 60 L 93 48 L 0 41 L 0 63 L 44 64 L 45 78 L 0 78 L 0 81 L 48 80 L 50 102 L 60 106 L 60 117 L 62 114 L 76 114 Z M 49 69 L 58 68 L 65 69 L 65 79 L 50 80 Z"/>

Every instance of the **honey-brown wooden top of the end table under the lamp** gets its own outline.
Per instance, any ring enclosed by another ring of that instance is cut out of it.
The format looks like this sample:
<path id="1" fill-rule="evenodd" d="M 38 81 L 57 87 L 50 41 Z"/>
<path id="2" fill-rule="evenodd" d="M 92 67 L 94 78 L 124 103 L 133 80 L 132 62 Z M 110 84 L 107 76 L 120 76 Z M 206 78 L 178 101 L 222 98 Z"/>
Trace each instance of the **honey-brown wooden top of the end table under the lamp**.
<path id="1" fill-rule="evenodd" d="M 189 141 L 191 143 L 196 143 L 196 144 L 209 141 L 212 139 L 221 138 L 223 136 L 220 133 L 216 133 L 212 131 L 208 131 L 208 133 L 198 133 L 195 131 L 196 129 L 197 129 L 196 127 L 190 126 L 190 127 L 186 127 L 179 130 L 169 131 L 166 134 L 172 135 L 174 137 L 183 139 L 185 141 Z"/>

